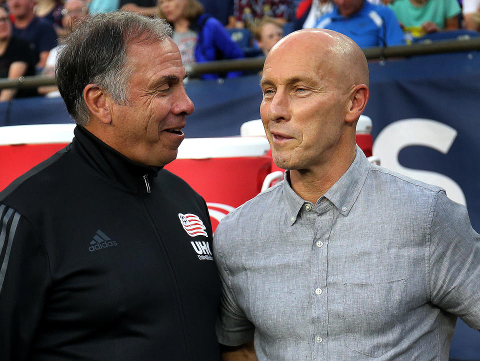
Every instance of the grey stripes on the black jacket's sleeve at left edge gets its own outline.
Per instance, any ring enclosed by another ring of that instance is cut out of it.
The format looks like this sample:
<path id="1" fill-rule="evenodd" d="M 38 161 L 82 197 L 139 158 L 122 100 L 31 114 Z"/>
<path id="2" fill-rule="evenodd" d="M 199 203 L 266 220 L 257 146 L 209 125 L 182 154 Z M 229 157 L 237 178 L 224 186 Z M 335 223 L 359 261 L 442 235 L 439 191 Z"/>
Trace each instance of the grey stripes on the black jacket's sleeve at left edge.
<path id="1" fill-rule="evenodd" d="M 12 208 L 0 205 L 0 292 L 5 279 L 6 267 L 8 266 L 8 258 L 10 257 L 11 244 L 15 236 L 16 227 L 20 214 Z M 10 221 L 11 220 L 11 221 Z M 6 240 L 6 243 L 5 243 Z"/>

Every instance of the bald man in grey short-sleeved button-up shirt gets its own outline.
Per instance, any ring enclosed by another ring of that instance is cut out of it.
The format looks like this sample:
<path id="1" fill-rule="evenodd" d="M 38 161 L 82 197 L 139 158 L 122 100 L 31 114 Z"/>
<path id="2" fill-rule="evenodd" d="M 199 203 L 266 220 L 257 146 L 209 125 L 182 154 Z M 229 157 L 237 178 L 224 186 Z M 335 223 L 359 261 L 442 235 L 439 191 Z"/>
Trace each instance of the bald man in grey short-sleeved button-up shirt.
<path id="1" fill-rule="evenodd" d="M 293 32 L 268 53 L 261 88 L 287 170 L 216 228 L 223 359 L 447 360 L 457 316 L 480 328 L 480 235 L 443 189 L 356 146 L 360 48 L 332 30 Z"/>

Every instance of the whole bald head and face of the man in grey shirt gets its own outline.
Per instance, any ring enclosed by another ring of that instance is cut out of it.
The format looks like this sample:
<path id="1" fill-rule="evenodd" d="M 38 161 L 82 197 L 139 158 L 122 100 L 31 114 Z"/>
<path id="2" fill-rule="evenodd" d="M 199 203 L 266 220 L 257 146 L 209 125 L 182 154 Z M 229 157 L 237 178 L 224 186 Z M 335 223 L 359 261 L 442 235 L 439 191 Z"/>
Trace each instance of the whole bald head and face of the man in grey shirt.
<path id="1" fill-rule="evenodd" d="M 305 29 L 278 41 L 260 82 L 260 116 L 275 164 L 320 176 L 336 169 L 336 180 L 355 156 L 367 84 L 363 52 L 338 32 Z"/>

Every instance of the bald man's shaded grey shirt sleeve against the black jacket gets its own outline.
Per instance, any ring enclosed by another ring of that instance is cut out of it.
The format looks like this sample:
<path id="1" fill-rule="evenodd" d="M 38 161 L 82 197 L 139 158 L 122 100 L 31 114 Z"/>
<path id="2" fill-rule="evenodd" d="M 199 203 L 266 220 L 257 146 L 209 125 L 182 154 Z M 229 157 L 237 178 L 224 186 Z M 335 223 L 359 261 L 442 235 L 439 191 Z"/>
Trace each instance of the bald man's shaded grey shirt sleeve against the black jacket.
<path id="1" fill-rule="evenodd" d="M 241 310 L 231 287 L 231 273 L 222 252 L 223 246 L 229 246 L 228 234 L 228 227 L 222 223 L 218 225 L 213 234 L 213 258 L 221 280 L 220 306 L 215 328 L 219 343 L 238 346 L 253 340 L 254 325 Z"/>

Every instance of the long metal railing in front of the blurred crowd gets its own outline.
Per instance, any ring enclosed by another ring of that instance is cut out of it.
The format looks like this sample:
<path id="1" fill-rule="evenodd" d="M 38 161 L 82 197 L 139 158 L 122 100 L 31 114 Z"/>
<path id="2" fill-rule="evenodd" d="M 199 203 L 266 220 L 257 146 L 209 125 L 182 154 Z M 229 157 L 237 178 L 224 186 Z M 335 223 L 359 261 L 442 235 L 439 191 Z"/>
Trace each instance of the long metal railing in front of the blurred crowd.
<path id="1" fill-rule="evenodd" d="M 368 60 L 387 59 L 389 57 L 408 57 L 414 55 L 438 54 L 446 52 L 479 51 L 480 37 L 465 40 L 441 40 L 430 43 L 415 43 L 411 45 L 367 47 L 362 49 Z M 263 68 L 265 57 L 247 57 L 234 60 L 218 60 L 203 63 L 188 64 L 186 71 L 191 77 L 205 73 L 225 73 L 228 71 L 259 71 Z M 21 76 L 17 79 L 0 79 L 0 89 L 28 88 L 44 85 L 55 85 L 53 76 Z"/>

